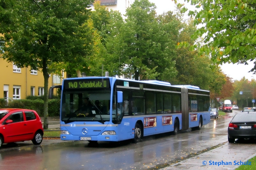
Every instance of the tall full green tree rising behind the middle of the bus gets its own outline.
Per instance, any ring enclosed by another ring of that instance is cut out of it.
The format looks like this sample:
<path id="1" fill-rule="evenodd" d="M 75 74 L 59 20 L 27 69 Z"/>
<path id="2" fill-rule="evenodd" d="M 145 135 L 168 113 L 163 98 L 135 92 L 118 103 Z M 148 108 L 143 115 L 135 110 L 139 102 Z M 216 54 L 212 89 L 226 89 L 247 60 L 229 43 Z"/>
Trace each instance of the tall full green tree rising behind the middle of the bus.
<path id="1" fill-rule="evenodd" d="M 163 80 L 176 74 L 168 49 L 174 49 L 174 45 L 170 45 L 167 32 L 161 29 L 155 9 L 148 0 L 135 0 L 126 10 L 125 21 L 114 13 L 106 44 L 108 62 L 116 63 L 109 68 L 110 74 L 132 73 L 136 80 Z"/>

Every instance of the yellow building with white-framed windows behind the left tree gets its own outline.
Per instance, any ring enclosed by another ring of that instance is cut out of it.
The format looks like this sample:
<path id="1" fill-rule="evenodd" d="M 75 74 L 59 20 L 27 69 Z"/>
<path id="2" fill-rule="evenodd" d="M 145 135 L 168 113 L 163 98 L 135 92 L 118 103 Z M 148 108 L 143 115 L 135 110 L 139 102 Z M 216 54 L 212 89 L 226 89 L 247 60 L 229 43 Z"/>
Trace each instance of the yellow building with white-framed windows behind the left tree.
<path id="1" fill-rule="evenodd" d="M 0 98 L 26 99 L 27 96 L 44 95 L 43 73 L 30 68 L 18 68 L 13 63 L 8 63 L 0 55 Z M 50 75 L 48 89 L 53 85 L 60 85 L 66 77 L 65 72 L 61 76 Z M 56 94 L 57 91 L 54 92 Z"/>

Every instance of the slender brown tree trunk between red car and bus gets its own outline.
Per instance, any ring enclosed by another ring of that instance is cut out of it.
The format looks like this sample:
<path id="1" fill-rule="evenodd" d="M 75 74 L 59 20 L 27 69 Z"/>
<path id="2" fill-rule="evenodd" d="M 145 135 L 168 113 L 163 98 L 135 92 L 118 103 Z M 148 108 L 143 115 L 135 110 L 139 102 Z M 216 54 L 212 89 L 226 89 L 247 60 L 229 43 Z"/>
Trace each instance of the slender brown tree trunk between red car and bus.
<path id="1" fill-rule="evenodd" d="M 44 129 L 48 129 L 48 81 L 49 74 L 47 70 L 46 59 L 43 59 L 44 74 Z"/>

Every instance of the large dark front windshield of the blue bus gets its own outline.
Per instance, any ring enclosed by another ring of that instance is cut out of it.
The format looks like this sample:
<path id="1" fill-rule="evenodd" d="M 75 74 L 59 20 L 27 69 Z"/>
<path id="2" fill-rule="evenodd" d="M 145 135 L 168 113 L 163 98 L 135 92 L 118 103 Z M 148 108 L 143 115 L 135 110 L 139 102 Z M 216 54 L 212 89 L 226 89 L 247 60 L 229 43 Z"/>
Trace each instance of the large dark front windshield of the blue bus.
<path id="1" fill-rule="evenodd" d="M 63 91 L 61 121 L 99 121 L 110 120 L 110 89 L 90 89 L 83 91 Z"/>

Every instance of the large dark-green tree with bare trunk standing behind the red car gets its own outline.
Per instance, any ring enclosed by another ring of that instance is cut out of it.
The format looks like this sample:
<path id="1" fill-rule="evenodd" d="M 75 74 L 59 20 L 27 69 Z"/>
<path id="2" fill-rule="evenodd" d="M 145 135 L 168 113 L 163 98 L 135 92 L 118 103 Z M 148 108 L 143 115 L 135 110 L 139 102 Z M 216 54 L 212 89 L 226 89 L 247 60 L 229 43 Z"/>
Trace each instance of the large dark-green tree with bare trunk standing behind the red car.
<path id="1" fill-rule="evenodd" d="M 44 129 L 48 128 L 48 78 L 55 63 L 84 63 L 92 50 L 86 20 L 91 0 L 0 1 L 1 53 L 17 66 L 44 75 Z"/>

